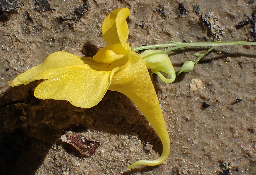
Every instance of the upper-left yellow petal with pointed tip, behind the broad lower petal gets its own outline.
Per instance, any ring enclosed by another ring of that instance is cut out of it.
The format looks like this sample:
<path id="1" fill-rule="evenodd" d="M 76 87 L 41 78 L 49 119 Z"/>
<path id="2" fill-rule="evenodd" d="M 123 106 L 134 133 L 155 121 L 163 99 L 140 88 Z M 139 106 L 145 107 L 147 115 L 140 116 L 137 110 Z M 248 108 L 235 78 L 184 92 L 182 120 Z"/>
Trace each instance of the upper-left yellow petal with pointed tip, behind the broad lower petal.
<path id="1" fill-rule="evenodd" d="M 35 80 L 47 80 L 56 77 L 59 74 L 79 69 L 91 69 L 77 55 L 67 52 L 54 52 L 50 54 L 40 65 L 28 69 L 20 74 L 13 81 L 9 81 L 9 86 L 18 86 L 28 84 Z"/>

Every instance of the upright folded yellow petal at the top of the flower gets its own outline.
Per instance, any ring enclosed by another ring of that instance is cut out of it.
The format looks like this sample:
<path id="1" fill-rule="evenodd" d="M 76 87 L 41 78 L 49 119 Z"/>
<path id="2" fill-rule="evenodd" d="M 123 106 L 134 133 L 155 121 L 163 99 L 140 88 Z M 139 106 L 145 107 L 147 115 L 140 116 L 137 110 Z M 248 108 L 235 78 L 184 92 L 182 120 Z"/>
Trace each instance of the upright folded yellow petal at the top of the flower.
<path id="1" fill-rule="evenodd" d="M 102 23 L 102 35 L 106 43 L 121 43 L 123 48 L 128 49 L 126 44 L 129 29 L 126 18 L 130 16 L 128 8 L 119 8 L 112 11 Z"/>

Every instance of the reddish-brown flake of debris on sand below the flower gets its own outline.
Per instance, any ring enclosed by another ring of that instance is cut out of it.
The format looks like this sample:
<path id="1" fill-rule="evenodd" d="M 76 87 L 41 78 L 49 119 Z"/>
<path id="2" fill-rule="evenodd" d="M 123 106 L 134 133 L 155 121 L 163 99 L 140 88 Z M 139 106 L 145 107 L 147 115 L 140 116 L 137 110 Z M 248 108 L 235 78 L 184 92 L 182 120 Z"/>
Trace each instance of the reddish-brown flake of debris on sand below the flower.
<path id="1" fill-rule="evenodd" d="M 68 131 L 61 136 L 62 142 L 69 143 L 84 156 L 92 156 L 95 150 L 99 148 L 100 142 L 87 140 L 83 135 Z"/>

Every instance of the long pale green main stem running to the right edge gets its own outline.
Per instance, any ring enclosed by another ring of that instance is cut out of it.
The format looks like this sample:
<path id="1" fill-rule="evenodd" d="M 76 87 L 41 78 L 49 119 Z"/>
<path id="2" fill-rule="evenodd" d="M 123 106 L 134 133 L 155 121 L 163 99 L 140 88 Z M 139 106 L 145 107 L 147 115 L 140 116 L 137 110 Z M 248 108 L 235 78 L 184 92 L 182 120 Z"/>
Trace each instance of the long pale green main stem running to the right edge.
<path id="1" fill-rule="evenodd" d="M 149 45 L 149 46 L 135 47 L 133 49 L 134 51 L 140 51 L 143 49 L 151 49 L 151 48 L 157 48 L 157 47 L 182 48 L 182 47 L 188 47 L 188 46 L 207 47 L 207 46 L 227 46 L 227 45 L 256 45 L 256 42 L 248 42 L 248 41 L 197 42 L 197 43 L 182 43 L 182 42 L 175 42 L 175 41 L 171 41 L 171 42 L 172 43 L 169 43 L 169 44 L 155 44 L 155 45 Z M 170 49 L 174 50 L 173 48 L 170 48 Z M 169 50 L 168 52 L 172 50 Z"/>

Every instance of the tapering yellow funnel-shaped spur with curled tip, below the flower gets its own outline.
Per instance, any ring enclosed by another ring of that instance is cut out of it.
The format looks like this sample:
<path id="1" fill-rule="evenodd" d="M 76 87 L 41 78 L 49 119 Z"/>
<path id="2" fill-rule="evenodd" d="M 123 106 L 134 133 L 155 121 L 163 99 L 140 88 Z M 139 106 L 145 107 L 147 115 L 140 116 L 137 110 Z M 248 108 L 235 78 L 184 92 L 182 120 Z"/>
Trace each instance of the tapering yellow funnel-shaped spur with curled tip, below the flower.
<path id="1" fill-rule="evenodd" d="M 130 98 L 153 126 L 163 144 L 163 153 L 157 160 L 140 160 L 130 165 L 128 169 L 136 165 L 159 165 L 166 160 L 170 152 L 169 134 L 143 59 L 132 52 L 128 57 L 126 66 L 114 74 L 109 90 L 121 92 Z"/>

